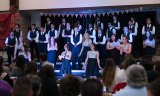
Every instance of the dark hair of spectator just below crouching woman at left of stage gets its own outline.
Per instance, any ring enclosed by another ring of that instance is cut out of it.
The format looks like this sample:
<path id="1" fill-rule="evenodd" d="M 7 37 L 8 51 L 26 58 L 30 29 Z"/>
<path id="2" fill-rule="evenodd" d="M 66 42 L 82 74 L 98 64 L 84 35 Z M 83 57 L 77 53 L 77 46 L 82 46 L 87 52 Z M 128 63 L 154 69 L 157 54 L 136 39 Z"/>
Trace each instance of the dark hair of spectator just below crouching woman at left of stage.
<path id="1" fill-rule="evenodd" d="M 34 61 L 28 62 L 25 70 L 24 75 L 28 74 L 37 74 L 37 64 Z"/>

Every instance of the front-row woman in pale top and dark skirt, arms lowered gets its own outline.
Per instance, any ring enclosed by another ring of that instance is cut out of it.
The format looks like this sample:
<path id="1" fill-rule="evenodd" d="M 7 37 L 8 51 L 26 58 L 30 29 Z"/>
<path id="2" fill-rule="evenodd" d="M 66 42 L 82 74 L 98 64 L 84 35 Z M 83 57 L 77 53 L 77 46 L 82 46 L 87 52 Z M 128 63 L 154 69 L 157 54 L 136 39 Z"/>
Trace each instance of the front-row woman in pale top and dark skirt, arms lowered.
<path id="1" fill-rule="evenodd" d="M 95 45 L 91 44 L 91 50 L 87 52 L 87 58 L 85 60 L 85 64 L 87 64 L 86 68 L 86 76 L 87 78 L 97 78 L 99 75 L 100 61 L 99 61 L 99 52 L 95 50 Z"/>

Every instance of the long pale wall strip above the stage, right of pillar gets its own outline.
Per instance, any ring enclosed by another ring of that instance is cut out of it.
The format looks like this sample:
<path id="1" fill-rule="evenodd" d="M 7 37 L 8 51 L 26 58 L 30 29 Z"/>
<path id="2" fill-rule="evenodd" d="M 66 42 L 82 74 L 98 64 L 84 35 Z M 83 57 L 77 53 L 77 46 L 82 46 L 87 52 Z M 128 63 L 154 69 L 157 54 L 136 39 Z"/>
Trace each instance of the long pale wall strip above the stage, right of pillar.
<path id="1" fill-rule="evenodd" d="M 20 10 L 160 4 L 160 0 L 19 0 Z"/>

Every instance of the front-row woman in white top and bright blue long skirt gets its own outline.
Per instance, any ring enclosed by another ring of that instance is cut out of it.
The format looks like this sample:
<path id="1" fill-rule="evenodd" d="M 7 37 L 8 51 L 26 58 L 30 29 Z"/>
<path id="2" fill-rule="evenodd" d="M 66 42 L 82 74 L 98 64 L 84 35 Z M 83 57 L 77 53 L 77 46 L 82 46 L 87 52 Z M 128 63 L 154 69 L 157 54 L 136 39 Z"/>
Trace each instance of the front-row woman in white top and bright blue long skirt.
<path id="1" fill-rule="evenodd" d="M 70 60 L 72 57 L 72 52 L 69 51 L 69 45 L 64 45 L 64 51 L 61 55 L 58 56 L 60 60 L 62 60 L 62 65 L 60 69 L 60 73 L 62 76 L 65 76 L 66 74 L 71 74 L 71 64 Z"/>

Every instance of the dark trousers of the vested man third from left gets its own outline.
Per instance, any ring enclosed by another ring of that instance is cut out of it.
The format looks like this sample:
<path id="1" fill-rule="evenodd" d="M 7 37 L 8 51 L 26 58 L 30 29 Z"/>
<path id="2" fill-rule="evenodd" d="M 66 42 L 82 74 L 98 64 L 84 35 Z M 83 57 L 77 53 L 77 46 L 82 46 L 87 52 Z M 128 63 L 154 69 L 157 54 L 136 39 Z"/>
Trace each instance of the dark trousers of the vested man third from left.
<path id="1" fill-rule="evenodd" d="M 37 60 L 39 61 L 38 44 L 35 41 L 29 41 L 29 47 L 31 50 L 31 59 L 34 59 L 34 51 L 36 52 Z"/>

